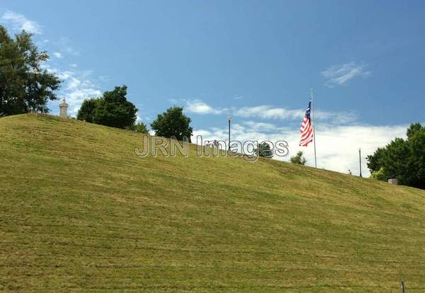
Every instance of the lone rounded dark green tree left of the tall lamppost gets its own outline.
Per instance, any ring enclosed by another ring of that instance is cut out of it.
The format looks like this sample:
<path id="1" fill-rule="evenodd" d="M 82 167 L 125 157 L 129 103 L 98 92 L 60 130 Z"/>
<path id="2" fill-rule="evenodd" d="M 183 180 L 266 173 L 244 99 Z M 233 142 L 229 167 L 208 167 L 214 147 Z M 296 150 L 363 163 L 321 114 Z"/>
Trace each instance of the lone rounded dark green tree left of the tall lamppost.
<path id="1" fill-rule="evenodd" d="M 179 140 L 186 137 L 191 142 L 193 129 L 190 123 L 191 118 L 183 114 L 183 108 L 171 107 L 159 114 L 157 120 L 151 123 L 151 127 L 159 137 L 175 137 Z"/>

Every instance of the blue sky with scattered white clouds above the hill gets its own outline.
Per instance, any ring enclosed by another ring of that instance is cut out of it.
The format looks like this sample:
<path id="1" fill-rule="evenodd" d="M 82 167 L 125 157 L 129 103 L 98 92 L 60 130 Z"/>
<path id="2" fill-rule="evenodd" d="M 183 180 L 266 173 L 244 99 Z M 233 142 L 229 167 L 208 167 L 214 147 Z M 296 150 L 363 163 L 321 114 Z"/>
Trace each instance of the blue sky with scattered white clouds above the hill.
<path id="1" fill-rule="evenodd" d="M 125 84 L 147 124 L 183 105 L 196 134 L 224 139 L 232 115 L 235 139 L 286 139 L 294 154 L 314 88 L 318 165 L 353 173 L 358 147 L 365 156 L 425 121 L 424 15 L 423 1 L 0 4 L 1 24 L 50 53 L 72 114 Z"/>

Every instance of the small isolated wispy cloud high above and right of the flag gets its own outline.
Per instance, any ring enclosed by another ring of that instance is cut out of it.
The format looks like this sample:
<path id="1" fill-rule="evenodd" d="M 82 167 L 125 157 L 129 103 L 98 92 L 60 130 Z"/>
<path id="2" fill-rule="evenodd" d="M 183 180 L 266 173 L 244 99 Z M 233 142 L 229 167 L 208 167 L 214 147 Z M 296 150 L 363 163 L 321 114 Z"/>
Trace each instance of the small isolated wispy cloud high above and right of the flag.
<path id="1" fill-rule="evenodd" d="M 356 76 L 368 76 L 371 72 L 366 70 L 367 65 L 348 62 L 346 64 L 333 65 L 321 72 L 327 78 L 327 86 L 343 85 Z"/>

